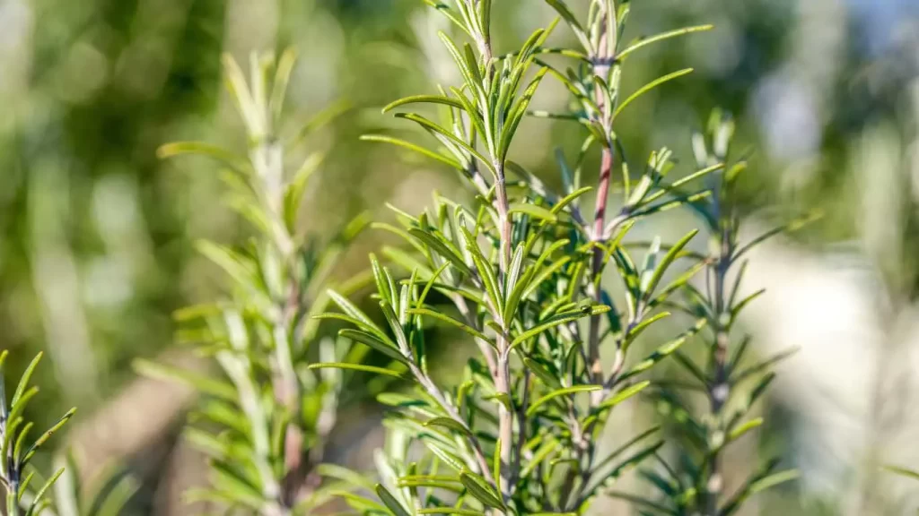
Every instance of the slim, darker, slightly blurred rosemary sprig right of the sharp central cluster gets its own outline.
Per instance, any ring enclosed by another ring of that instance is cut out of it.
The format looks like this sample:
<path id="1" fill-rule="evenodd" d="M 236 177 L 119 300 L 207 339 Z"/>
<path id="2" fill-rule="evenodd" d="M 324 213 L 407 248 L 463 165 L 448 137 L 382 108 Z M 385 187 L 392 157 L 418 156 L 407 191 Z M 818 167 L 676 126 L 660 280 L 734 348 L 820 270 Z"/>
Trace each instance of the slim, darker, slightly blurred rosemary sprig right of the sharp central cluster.
<path id="1" fill-rule="evenodd" d="M 699 166 L 726 163 L 733 129 L 730 118 L 720 111 L 712 114 L 707 132 L 693 136 L 693 151 Z M 778 471 L 780 463 L 773 459 L 758 466 L 745 481 L 734 482 L 738 487 L 732 493 L 724 489 L 727 482 L 721 469 L 721 455 L 728 445 L 763 424 L 762 418 L 750 416 L 750 410 L 775 378 L 773 366 L 793 353 L 778 353 L 751 365 L 746 360 L 750 336 L 745 336 L 735 347 L 731 344 L 741 311 L 764 293 L 757 290 L 743 298 L 740 295 L 748 263 L 746 255 L 762 241 L 795 230 L 809 219 L 799 219 L 750 241 L 740 241 L 736 190 L 745 170 L 746 163 L 741 160 L 709 174 L 711 196 L 695 205 L 710 236 L 709 256 L 703 262 L 704 286 L 687 285 L 686 303 L 671 303 L 676 309 L 707 320 L 709 332 L 702 340 L 707 352 L 704 364 L 699 365 L 688 353 L 675 353 L 677 363 L 686 369 L 693 383 L 684 392 L 669 387 L 658 392 L 669 411 L 679 414 L 674 418 L 679 466 L 664 467 L 666 477 L 651 472 L 646 472 L 645 477 L 667 499 L 664 510 L 669 514 L 729 516 L 740 510 L 744 500 L 754 493 L 798 476 L 793 469 Z M 698 392 L 704 394 L 709 409 L 701 414 L 694 413 L 687 403 Z M 651 500 L 637 501 L 660 507 Z"/>

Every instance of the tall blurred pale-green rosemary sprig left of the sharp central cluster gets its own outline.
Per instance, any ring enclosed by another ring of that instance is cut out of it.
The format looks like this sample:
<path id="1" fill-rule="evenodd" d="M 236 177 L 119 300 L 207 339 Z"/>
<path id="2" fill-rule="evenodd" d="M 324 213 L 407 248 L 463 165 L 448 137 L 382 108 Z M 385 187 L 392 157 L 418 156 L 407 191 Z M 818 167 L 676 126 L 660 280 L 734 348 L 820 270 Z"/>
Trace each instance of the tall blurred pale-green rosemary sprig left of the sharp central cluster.
<path id="1" fill-rule="evenodd" d="M 266 516 L 302 512 L 295 510 L 298 504 L 316 494 L 316 466 L 347 394 L 341 372 L 305 368 L 307 353 L 323 361 L 359 361 L 364 353 L 344 340 L 321 339 L 311 317 L 323 311 L 323 286 L 330 285 L 336 259 L 365 222 L 355 219 L 328 241 L 310 237 L 301 226 L 301 200 L 321 156 L 311 153 L 292 169 L 287 163 L 334 113 L 321 112 L 292 135 L 281 133 L 294 60 L 292 51 L 277 62 L 253 54 L 247 83 L 236 62 L 224 58 L 226 84 L 246 129 L 247 155 L 202 142 L 170 143 L 159 151 L 163 158 L 199 153 L 219 160 L 226 166 L 229 206 L 255 229 L 240 249 L 200 243 L 199 251 L 232 280 L 232 297 L 176 313 L 185 325 L 180 339 L 213 357 L 225 379 L 137 364 L 144 374 L 186 382 L 206 395 L 193 415 L 198 424 L 186 433 L 210 455 L 212 481 L 209 489 L 188 492 L 188 499 Z M 338 291 L 351 291 L 362 277 Z"/>

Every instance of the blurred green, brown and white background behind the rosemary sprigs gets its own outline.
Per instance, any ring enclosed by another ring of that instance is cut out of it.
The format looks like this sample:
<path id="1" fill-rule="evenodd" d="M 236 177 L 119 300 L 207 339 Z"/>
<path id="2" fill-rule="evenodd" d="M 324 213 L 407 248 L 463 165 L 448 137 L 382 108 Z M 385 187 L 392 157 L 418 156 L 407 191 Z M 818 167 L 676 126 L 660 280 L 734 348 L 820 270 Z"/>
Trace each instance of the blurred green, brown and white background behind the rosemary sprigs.
<path id="1" fill-rule="evenodd" d="M 495 4 L 499 51 L 551 19 L 539 0 Z M 746 287 L 768 290 L 745 330 L 757 353 L 800 353 L 780 368 L 768 422 L 730 454 L 729 471 L 777 453 L 802 476 L 746 513 L 914 513 L 919 483 L 878 466 L 919 466 L 919 2 L 632 6 L 631 36 L 716 26 L 630 60 L 632 88 L 696 68 L 620 118 L 632 154 L 668 145 L 685 173 L 690 131 L 724 107 L 738 121 L 737 148 L 751 152 L 746 227 L 823 213 L 752 255 Z M 221 292 L 192 242 L 246 231 L 221 206 L 211 163 L 161 163 L 155 149 L 238 142 L 221 52 L 245 62 L 292 45 L 301 60 L 289 118 L 352 107 L 311 142 L 329 157 L 307 194 L 307 223 L 322 233 L 363 210 L 386 219 L 384 202 L 420 209 L 432 191 L 455 190 L 453 175 L 357 137 L 393 127 L 379 112 L 393 98 L 455 81 L 437 28 L 444 20 L 415 0 L 0 0 L 0 349 L 13 352 L 14 372 L 47 353 L 32 416 L 78 405 L 60 443 L 84 457 L 85 475 L 108 461 L 130 468 L 142 482 L 134 513 L 186 514 L 181 490 L 204 480 L 200 456 L 178 438 L 192 393 L 138 378 L 130 362 L 206 366 L 173 344 L 170 314 Z M 562 106 L 562 88 L 544 84 L 541 107 Z M 582 136 L 531 120 L 513 152 L 557 184 L 552 151 L 573 152 Z M 671 213 L 640 230 L 672 238 L 696 225 Z M 364 235 L 337 274 L 356 274 L 384 241 Z M 380 440 L 376 417 L 349 414 L 334 456 L 360 466 L 358 452 Z"/>

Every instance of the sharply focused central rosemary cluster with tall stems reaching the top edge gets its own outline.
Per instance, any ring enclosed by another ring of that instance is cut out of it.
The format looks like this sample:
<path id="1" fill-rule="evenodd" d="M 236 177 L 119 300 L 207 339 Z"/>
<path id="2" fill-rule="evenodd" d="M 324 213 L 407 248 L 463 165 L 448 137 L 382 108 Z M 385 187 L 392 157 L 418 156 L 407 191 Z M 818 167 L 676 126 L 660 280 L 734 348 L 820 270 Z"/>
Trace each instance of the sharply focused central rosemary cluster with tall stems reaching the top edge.
<path id="1" fill-rule="evenodd" d="M 561 0 L 547 2 L 573 30 L 581 49 L 545 46 L 557 19 L 550 28 L 536 30 L 520 49 L 498 54 L 489 0 L 455 0 L 449 6 L 426 1 L 468 39 L 457 43 L 448 34 L 439 35 L 463 82 L 439 95 L 397 100 L 383 110 L 419 104 L 442 109 L 445 118 L 439 123 L 417 113 L 396 117 L 420 126 L 443 151 L 384 135 L 365 137 L 448 165 L 474 199 L 462 203 L 436 195 L 424 213 L 396 209 L 398 225 L 379 225 L 412 247 L 411 252 L 388 252 L 407 277 L 394 275 L 371 256 L 383 326 L 334 294 L 341 313 L 323 316 L 353 325 L 342 335 L 385 354 L 391 365 L 311 367 L 359 369 L 408 378 L 414 385 L 411 394 L 379 397 L 394 408 L 386 421 L 391 441 L 377 464 L 379 501 L 348 495 L 357 510 L 397 516 L 582 513 L 664 444 L 655 437 L 657 429 L 606 454 L 598 451 L 596 441 L 612 409 L 649 387 L 646 373 L 706 322 L 699 318 L 673 340 L 658 342 L 649 355 L 635 359 L 630 353 L 644 331 L 669 315 L 660 308 L 702 268 L 698 264 L 667 274 L 691 255 L 686 245 L 696 231 L 669 246 L 655 240 L 641 262 L 626 250 L 624 239 L 637 219 L 695 206 L 707 192 L 687 188 L 722 164 L 706 163 L 667 182 L 673 163 L 671 152 L 662 149 L 652 152 L 641 174 L 633 177 L 614 122 L 643 93 L 687 73 L 664 76 L 624 95 L 619 79 L 626 58 L 654 41 L 708 26 L 627 42 L 619 35 L 628 3 L 592 0 L 582 22 Z M 572 67 L 562 72 L 541 61 L 550 54 L 567 56 Z M 530 112 L 547 73 L 571 92 L 572 113 Z M 586 128 L 574 173 L 559 153 L 560 193 L 551 192 L 511 157 L 517 129 L 528 113 Z M 600 153 L 596 207 L 585 215 L 581 199 L 593 188 L 580 185 L 580 175 L 585 157 L 595 151 Z M 617 163 L 623 197 L 614 212 L 608 197 Z M 601 281 L 607 268 L 621 281 L 621 298 L 614 298 Z M 425 328 L 431 323 L 463 331 L 477 345 L 459 385 L 442 385 L 428 368 L 432 344 L 425 342 Z M 423 453 L 410 461 L 413 444 L 422 446 Z"/>

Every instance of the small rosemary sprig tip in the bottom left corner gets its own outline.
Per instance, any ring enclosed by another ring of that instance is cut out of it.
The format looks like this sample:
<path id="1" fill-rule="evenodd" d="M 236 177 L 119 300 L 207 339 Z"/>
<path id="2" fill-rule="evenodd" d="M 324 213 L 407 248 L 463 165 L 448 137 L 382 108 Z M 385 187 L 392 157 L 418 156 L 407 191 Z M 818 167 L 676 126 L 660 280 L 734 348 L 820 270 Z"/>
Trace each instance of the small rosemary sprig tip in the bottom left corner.
<path id="1" fill-rule="evenodd" d="M 26 421 L 25 410 L 28 402 L 39 392 L 39 387 L 29 387 L 28 383 L 39 365 L 41 354 L 28 365 L 8 403 L 3 376 L 7 354 L 6 351 L 0 352 L 0 485 L 6 498 L 6 516 L 32 516 L 51 506 L 48 490 L 61 477 L 63 468 L 41 482 L 38 480 L 40 475 L 30 462 L 51 435 L 74 416 L 76 409 L 68 410 L 50 429 L 32 441 L 29 432 L 35 425 Z"/>

